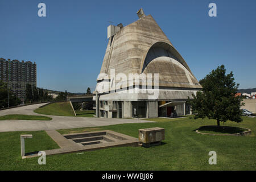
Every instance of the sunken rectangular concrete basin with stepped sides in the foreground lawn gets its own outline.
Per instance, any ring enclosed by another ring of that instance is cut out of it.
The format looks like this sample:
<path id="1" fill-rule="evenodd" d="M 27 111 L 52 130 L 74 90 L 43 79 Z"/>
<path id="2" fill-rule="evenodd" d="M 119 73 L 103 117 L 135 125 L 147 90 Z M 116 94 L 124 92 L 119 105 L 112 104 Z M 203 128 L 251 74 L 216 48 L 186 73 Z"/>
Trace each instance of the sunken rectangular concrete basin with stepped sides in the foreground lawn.
<path id="1" fill-rule="evenodd" d="M 55 130 L 46 131 L 60 148 L 46 150 L 46 155 L 67 154 L 71 152 L 93 151 L 109 147 L 137 147 L 139 140 L 111 130 L 61 135 Z M 25 155 L 23 158 L 36 157 L 38 154 Z"/>

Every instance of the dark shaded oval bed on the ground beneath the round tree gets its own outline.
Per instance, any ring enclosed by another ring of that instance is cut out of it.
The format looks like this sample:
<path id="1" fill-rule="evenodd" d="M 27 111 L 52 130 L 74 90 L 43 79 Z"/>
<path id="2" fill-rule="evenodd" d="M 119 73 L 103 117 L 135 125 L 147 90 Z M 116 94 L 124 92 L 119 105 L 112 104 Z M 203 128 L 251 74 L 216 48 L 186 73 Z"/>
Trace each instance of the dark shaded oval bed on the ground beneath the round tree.
<path id="1" fill-rule="evenodd" d="M 242 129 L 241 127 L 232 127 L 232 126 L 201 126 L 199 129 L 196 129 L 200 132 L 204 131 L 206 133 L 223 133 L 223 134 L 234 134 L 241 133 L 243 131 L 247 131 L 246 129 Z M 194 130 L 194 131 L 196 131 Z"/>

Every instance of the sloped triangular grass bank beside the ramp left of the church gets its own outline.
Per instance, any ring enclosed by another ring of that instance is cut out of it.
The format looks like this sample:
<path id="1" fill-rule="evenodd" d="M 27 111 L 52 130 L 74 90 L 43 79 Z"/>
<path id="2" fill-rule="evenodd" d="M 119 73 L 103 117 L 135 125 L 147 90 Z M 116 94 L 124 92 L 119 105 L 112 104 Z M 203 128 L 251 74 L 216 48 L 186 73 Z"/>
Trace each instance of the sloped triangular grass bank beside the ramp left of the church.
<path id="1" fill-rule="evenodd" d="M 55 102 L 34 110 L 35 113 L 48 115 L 75 116 L 69 102 Z"/>

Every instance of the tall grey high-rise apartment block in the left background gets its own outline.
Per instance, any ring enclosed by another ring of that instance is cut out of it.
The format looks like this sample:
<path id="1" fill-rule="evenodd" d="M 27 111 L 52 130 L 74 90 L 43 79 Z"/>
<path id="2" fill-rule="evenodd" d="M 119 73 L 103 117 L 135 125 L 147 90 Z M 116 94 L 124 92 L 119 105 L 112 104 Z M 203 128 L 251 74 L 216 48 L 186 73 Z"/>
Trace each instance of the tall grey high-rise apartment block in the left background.
<path id="1" fill-rule="evenodd" d="M 36 63 L 0 58 L 0 80 L 6 82 L 9 89 L 24 101 L 26 85 L 36 86 Z"/>

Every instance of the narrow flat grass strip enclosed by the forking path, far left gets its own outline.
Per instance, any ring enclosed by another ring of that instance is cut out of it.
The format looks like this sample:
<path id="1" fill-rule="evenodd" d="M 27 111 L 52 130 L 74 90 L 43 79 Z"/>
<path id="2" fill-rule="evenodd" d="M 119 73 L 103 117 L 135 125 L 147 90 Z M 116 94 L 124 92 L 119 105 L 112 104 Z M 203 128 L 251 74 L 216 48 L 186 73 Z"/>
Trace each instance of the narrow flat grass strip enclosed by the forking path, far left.
<path id="1" fill-rule="evenodd" d="M 52 118 L 42 116 L 42 115 L 24 115 L 24 114 L 9 114 L 0 116 L 0 120 L 41 120 L 49 121 Z"/>

